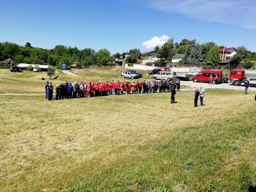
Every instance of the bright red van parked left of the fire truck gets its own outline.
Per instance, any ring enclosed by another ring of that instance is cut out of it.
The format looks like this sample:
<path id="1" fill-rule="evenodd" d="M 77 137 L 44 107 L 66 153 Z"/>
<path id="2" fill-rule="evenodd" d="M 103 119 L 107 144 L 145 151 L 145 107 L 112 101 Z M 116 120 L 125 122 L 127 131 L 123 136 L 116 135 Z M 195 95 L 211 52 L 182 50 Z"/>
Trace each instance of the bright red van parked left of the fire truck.
<path id="1" fill-rule="evenodd" d="M 218 75 L 218 82 L 222 82 L 221 70 L 202 70 L 193 77 L 194 82 L 210 82 L 210 75 L 212 75 L 212 83 L 215 83 L 215 76 Z"/>

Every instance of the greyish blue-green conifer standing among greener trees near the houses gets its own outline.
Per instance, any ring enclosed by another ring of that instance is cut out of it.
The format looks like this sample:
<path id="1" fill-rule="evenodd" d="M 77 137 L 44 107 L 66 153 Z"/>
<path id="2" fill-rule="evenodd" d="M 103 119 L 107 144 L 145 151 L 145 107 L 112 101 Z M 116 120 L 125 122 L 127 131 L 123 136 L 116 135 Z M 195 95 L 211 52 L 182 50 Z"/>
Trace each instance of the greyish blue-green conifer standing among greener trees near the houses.
<path id="1" fill-rule="evenodd" d="M 183 61 L 189 66 L 198 66 L 203 61 L 201 47 L 195 39 L 189 43 Z"/>

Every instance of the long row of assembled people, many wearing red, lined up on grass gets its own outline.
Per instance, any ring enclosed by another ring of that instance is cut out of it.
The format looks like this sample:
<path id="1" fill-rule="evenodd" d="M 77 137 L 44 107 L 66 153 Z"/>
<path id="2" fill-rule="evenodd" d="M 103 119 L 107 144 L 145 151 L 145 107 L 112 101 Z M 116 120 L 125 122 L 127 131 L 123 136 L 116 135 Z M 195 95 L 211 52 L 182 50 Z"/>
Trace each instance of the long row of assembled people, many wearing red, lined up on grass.
<path id="1" fill-rule="evenodd" d="M 151 81 L 116 81 L 108 82 L 68 82 L 61 83 L 55 87 L 55 99 L 71 99 L 84 97 L 102 97 L 107 95 L 137 94 L 180 91 L 179 79 L 151 80 Z M 54 87 L 52 83 L 45 84 L 45 98 L 53 99 Z"/>

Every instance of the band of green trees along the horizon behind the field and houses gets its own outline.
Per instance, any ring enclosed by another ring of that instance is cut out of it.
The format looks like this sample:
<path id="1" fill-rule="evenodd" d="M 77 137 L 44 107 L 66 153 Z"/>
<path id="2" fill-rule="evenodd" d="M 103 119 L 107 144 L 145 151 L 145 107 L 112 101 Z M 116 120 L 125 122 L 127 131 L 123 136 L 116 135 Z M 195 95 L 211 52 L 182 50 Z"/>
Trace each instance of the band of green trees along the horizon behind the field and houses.
<path id="1" fill-rule="evenodd" d="M 156 57 L 161 60 L 156 61 L 155 66 L 165 66 L 170 62 L 174 54 L 185 54 L 182 64 L 188 66 L 217 65 L 220 61 L 219 49 L 214 42 L 199 44 L 196 40 L 182 39 L 180 43 L 174 43 L 173 38 L 169 39 L 162 47 L 156 46 Z M 243 63 L 245 68 L 252 66 L 252 60 L 256 60 L 256 53 L 246 49 L 245 46 L 238 46 L 233 60 Z M 127 52 L 130 56 L 126 58 L 126 63 L 140 63 L 141 51 L 131 49 Z M 73 63 L 79 67 L 89 67 L 92 65 L 109 66 L 113 65 L 120 53 L 111 55 L 107 49 L 95 51 L 91 48 L 79 50 L 77 47 L 56 45 L 51 50 L 41 49 L 26 43 L 20 46 L 10 42 L 0 42 L 0 67 L 9 67 L 10 63 L 29 63 L 35 65 L 51 65 L 60 68 L 60 63 L 66 61 L 68 65 Z"/>

